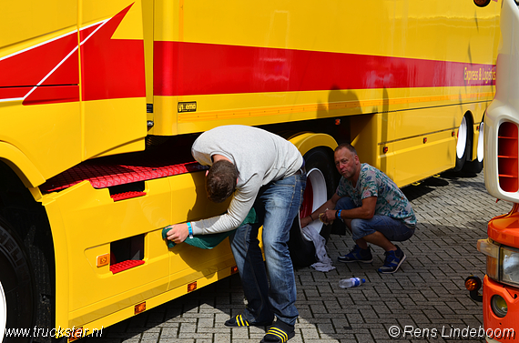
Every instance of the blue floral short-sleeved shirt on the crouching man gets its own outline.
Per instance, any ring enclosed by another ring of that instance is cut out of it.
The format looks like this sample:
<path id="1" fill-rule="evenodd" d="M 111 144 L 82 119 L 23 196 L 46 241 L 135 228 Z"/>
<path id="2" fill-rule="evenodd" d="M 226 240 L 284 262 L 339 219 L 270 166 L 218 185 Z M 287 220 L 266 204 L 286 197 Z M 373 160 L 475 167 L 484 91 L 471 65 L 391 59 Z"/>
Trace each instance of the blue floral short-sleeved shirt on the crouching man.
<path id="1" fill-rule="evenodd" d="M 402 220 L 407 227 L 416 227 L 416 217 L 411 203 L 402 190 L 382 171 L 367 163 L 361 164 L 361 174 L 356 187 L 351 185 L 350 180 L 341 177 L 337 195 L 350 197 L 357 207 L 362 206 L 362 199 L 377 197 L 375 215 L 392 217 Z"/>

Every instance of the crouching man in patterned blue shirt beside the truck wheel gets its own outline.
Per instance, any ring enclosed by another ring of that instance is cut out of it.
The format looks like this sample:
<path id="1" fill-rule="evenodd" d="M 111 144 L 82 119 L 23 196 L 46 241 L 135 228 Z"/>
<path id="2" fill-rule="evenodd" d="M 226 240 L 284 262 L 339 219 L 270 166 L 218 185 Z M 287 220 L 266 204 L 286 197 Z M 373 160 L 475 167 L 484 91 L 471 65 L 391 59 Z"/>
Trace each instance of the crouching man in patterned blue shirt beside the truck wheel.
<path id="1" fill-rule="evenodd" d="M 355 247 L 339 257 L 340 262 L 371 263 L 373 257 L 368 246 L 371 243 L 385 250 L 384 265 L 378 271 L 383 274 L 396 272 L 405 260 L 405 254 L 392 241 L 409 239 L 416 227 L 409 200 L 382 171 L 361 164 L 350 144 L 337 146 L 334 159 L 342 176 L 339 187 L 330 200 L 309 217 L 301 219 L 301 226 L 318 218 L 326 224 L 341 219 L 350 229 Z"/>

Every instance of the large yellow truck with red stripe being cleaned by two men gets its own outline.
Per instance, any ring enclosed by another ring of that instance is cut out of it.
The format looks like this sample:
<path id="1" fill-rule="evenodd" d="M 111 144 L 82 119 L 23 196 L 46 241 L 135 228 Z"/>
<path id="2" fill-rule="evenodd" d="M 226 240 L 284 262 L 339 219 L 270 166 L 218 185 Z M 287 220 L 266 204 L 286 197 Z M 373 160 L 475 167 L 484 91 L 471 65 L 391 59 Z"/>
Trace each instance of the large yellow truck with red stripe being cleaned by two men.
<path id="1" fill-rule="evenodd" d="M 341 142 L 400 187 L 481 170 L 500 3 L 0 0 L 0 339 L 81 337 L 235 272 L 227 241 L 161 237 L 226 210 L 190 156 L 212 127 L 290 139 L 303 216 Z"/>

